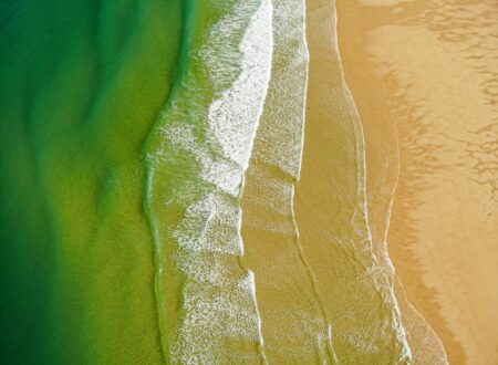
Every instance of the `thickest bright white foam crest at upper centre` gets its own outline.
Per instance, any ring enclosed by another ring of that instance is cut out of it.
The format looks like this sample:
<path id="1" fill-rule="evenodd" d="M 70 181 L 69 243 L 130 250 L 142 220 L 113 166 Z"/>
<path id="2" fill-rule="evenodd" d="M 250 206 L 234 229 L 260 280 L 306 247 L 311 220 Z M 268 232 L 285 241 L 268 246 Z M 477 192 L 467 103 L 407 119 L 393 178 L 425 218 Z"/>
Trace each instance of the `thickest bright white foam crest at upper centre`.
<path id="1" fill-rule="evenodd" d="M 271 72 L 271 4 L 263 0 L 240 43 L 242 72 L 209 107 L 208 126 L 224 155 L 246 170 Z M 268 27 L 270 25 L 270 27 Z M 220 28 L 225 28 L 220 24 Z M 216 60 L 217 49 L 206 52 Z M 212 62 L 212 61 L 211 61 Z"/>

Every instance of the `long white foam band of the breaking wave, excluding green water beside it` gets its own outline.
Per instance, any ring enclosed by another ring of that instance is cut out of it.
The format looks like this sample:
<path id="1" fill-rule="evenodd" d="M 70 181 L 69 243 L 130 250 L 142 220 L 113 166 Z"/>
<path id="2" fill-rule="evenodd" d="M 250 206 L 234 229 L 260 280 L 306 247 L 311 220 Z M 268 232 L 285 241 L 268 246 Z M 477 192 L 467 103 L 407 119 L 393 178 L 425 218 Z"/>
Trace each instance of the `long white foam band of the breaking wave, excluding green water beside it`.
<path id="1" fill-rule="evenodd" d="M 234 50 L 230 41 L 249 17 Z M 178 244 L 175 260 L 186 278 L 185 314 L 170 347 L 175 363 L 253 363 L 253 356 L 266 361 L 255 278 L 239 264 L 239 196 L 270 77 L 271 24 L 270 0 L 241 0 L 221 18 L 199 52 L 215 86 L 227 86 L 209 106 L 205 139 L 196 138 L 188 124 L 170 123 L 162 131 L 174 148 L 194 156 L 199 178 L 212 187 L 187 207 L 172 233 Z M 238 70 L 237 80 L 227 84 L 227 73 Z M 243 350 L 245 342 L 255 344 L 255 353 Z M 230 346 L 240 351 L 230 352 Z"/>

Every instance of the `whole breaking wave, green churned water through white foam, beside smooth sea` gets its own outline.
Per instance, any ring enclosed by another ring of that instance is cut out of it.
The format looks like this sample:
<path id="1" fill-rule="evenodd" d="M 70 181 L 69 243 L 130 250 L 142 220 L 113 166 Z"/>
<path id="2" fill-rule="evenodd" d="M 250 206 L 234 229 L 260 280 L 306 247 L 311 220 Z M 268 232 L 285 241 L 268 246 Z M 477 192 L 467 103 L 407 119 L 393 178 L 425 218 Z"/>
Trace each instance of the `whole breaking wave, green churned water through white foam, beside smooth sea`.
<path id="1" fill-rule="evenodd" d="M 270 77 L 272 8 L 262 0 L 224 10 L 190 50 L 194 66 L 148 154 L 148 197 L 158 207 L 151 209 L 160 250 L 156 283 L 164 285 L 157 293 L 168 327 L 163 343 L 173 362 L 185 364 L 264 362 L 253 275 L 239 260 L 239 200 Z M 173 191 L 160 187 L 159 170 L 175 171 Z M 172 211 L 175 221 L 157 219 Z"/>

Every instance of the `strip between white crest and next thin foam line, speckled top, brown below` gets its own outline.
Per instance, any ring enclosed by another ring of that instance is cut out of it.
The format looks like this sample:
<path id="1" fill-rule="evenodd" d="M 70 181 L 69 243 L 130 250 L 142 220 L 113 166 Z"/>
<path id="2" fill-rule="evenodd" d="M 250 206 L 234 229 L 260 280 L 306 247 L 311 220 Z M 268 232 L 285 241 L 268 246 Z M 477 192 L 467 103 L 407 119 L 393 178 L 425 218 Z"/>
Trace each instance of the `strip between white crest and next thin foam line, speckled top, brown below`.
<path id="1" fill-rule="evenodd" d="M 325 324 L 292 211 L 308 72 L 304 9 L 279 1 L 273 12 L 271 80 L 245 176 L 242 264 L 255 274 L 269 363 L 322 363 Z"/>

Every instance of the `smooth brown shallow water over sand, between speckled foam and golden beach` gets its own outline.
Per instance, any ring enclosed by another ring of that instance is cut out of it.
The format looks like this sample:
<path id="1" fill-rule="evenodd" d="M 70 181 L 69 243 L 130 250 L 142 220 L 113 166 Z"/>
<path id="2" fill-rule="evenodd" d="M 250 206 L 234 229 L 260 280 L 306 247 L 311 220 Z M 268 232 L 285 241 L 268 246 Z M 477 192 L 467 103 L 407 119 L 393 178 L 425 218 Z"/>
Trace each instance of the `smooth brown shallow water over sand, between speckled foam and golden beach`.
<path id="1" fill-rule="evenodd" d="M 385 286 L 375 288 L 372 277 L 363 137 L 343 81 L 333 19 L 329 1 L 307 2 L 310 69 L 301 177 L 294 180 L 258 158 L 258 150 L 268 148 L 258 132 L 242 199 L 242 262 L 255 272 L 270 362 L 393 363 L 403 358 L 403 344 L 390 324 L 395 304 L 385 302 L 388 262 L 375 268 L 386 271 L 377 278 Z M 260 128 L 267 122 L 263 114 Z M 385 209 L 380 212 L 385 226 Z M 385 228 L 378 229 L 382 236 Z M 408 336 L 433 341 L 419 317 L 409 307 L 405 312 L 412 321 Z M 438 364 L 442 352 L 435 347 L 414 356 Z"/>

